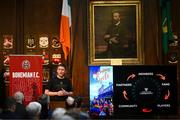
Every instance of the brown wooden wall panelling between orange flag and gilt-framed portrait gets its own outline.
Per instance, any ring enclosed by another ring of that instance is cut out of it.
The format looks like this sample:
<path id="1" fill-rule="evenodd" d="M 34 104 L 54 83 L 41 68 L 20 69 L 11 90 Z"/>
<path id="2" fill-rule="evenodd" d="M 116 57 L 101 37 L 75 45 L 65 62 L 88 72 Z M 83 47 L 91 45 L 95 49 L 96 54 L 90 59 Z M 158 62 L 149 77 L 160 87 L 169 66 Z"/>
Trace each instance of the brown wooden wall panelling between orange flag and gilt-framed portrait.
<path id="1" fill-rule="evenodd" d="M 89 104 L 87 0 L 72 1 L 72 61 L 74 95 Z"/>

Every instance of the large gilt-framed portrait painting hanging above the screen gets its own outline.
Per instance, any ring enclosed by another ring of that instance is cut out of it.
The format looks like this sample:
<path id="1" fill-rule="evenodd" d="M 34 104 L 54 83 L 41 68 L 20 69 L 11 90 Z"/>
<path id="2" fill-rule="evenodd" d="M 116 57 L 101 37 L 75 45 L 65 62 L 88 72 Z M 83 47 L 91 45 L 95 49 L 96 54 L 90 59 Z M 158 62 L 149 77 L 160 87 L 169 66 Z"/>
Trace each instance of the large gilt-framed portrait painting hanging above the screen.
<path id="1" fill-rule="evenodd" d="M 89 2 L 89 65 L 143 64 L 140 1 Z"/>

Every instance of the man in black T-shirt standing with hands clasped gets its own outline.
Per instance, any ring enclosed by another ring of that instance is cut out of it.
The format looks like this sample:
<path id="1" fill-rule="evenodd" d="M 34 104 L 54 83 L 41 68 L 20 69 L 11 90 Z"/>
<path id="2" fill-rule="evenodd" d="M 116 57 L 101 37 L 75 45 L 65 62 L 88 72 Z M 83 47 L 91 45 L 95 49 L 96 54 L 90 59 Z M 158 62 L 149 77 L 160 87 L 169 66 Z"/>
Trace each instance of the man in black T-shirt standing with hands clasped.
<path id="1" fill-rule="evenodd" d="M 71 81 L 65 77 L 66 66 L 60 64 L 56 69 L 56 77 L 48 82 L 45 94 L 50 96 L 50 108 L 65 107 L 65 100 L 73 94 Z"/>

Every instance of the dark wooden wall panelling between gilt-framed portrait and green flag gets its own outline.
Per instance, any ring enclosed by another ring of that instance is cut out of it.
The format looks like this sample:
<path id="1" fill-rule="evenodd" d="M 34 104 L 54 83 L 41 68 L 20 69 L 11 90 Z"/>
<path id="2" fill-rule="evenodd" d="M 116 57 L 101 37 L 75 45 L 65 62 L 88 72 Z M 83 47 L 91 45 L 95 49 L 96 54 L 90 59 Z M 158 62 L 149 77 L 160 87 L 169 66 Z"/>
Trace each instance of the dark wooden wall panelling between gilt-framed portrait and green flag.
<path id="1" fill-rule="evenodd" d="M 161 64 L 157 0 L 142 0 L 145 64 Z M 151 57 L 150 57 L 151 56 Z"/>

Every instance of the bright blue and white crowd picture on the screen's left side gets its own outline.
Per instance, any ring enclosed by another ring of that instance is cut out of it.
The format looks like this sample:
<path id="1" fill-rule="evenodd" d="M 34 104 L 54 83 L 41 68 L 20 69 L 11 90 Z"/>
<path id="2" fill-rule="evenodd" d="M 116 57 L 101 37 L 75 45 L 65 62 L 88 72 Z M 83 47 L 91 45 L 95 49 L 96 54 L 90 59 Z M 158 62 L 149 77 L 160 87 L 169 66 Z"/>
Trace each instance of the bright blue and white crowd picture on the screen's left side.
<path id="1" fill-rule="evenodd" d="M 90 66 L 90 115 L 113 115 L 113 67 Z"/>

